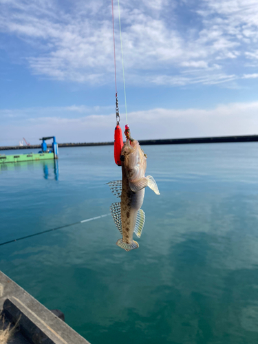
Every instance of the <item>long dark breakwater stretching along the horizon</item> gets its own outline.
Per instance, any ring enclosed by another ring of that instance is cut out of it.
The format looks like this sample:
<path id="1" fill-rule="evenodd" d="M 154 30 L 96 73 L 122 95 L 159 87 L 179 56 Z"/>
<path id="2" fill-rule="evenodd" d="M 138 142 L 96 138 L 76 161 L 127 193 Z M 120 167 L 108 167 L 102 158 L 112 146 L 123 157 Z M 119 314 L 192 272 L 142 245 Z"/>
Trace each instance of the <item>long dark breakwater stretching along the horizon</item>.
<path id="1" fill-rule="evenodd" d="M 161 140 L 139 140 L 139 143 L 144 145 L 151 144 L 193 144 L 193 143 L 223 143 L 223 142 L 257 142 L 258 135 L 244 135 L 244 136 L 215 136 L 208 138 L 169 138 Z M 84 143 L 58 143 L 58 147 L 85 147 L 85 146 L 111 146 L 114 142 L 84 142 Z M 51 144 L 47 145 L 51 147 Z M 11 149 L 39 149 L 40 144 L 31 146 L 3 146 L 0 151 L 7 151 Z"/>

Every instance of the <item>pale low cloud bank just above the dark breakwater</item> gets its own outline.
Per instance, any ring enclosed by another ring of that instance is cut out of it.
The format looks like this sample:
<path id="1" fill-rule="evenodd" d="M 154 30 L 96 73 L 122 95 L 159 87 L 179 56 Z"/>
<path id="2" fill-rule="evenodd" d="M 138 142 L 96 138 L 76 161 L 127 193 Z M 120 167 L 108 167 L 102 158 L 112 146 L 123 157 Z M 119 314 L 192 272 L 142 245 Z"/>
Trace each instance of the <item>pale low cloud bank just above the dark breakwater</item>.
<path id="1" fill-rule="evenodd" d="M 255 134 L 258 102 L 219 105 L 214 109 L 150 109 L 128 114 L 133 138 L 186 138 Z M 47 114 L 47 117 L 45 117 Z M 125 114 L 120 114 L 125 118 Z M 114 140 L 116 119 L 108 108 L 80 106 L 1 110 L 1 145 L 17 144 L 21 133 L 29 142 L 55 135 L 58 142 L 104 142 Z M 12 120 L 12 116 L 16 116 Z M 124 124 L 121 120 L 121 127 Z M 11 125 L 10 125 L 11 124 Z M 11 129 L 10 129 L 11 128 Z"/>

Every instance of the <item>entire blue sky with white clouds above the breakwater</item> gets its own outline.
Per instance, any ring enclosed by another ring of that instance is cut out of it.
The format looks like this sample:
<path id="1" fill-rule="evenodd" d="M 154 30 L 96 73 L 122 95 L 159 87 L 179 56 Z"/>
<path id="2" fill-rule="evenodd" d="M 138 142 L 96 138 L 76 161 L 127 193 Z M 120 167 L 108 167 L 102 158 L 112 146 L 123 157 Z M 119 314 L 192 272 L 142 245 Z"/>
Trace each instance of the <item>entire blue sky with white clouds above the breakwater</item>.
<path id="1" fill-rule="evenodd" d="M 120 0 L 120 10 L 134 138 L 258 133 L 257 0 Z M 113 140 L 113 54 L 111 0 L 0 0 L 0 145 Z"/>

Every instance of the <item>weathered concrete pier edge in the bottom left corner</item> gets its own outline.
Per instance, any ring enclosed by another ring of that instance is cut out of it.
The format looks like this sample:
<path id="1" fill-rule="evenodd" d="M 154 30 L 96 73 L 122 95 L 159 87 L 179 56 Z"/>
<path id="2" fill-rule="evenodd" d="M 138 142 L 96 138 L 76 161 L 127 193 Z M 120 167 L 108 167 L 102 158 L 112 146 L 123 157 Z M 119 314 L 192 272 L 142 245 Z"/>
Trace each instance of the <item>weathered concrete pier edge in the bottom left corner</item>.
<path id="1" fill-rule="evenodd" d="M 12 343 L 89 344 L 53 312 L 0 271 L 0 310 L 11 323 L 19 317 L 19 336 Z"/>

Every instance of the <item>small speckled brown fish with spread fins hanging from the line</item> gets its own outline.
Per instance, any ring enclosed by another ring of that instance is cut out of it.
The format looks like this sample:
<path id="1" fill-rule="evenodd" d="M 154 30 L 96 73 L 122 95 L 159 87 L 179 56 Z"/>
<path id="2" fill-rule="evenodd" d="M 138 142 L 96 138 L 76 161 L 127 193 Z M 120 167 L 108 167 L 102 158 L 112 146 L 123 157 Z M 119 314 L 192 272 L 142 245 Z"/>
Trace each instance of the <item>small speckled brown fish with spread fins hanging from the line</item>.
<path id="1" fill-rule="evenodd" d="M 158 186 L 151 175 L 145 177 L 147 155 L 141 149 L 137 140 L 127 138 L 122 147 L 120 160 L 122 163 L 122 180 L 107 183 L 111 192 L 120 198 L 121 202 L 111 204 L 110 211 L 114 222 L 122 235 L 116 245 L 127 252 L 139 247 L 133 240 L 133 232 L 140 238 L 145 222 L 145 214 L 141 209 L 145 188 L 149 186 L 160 195 Z"/>

